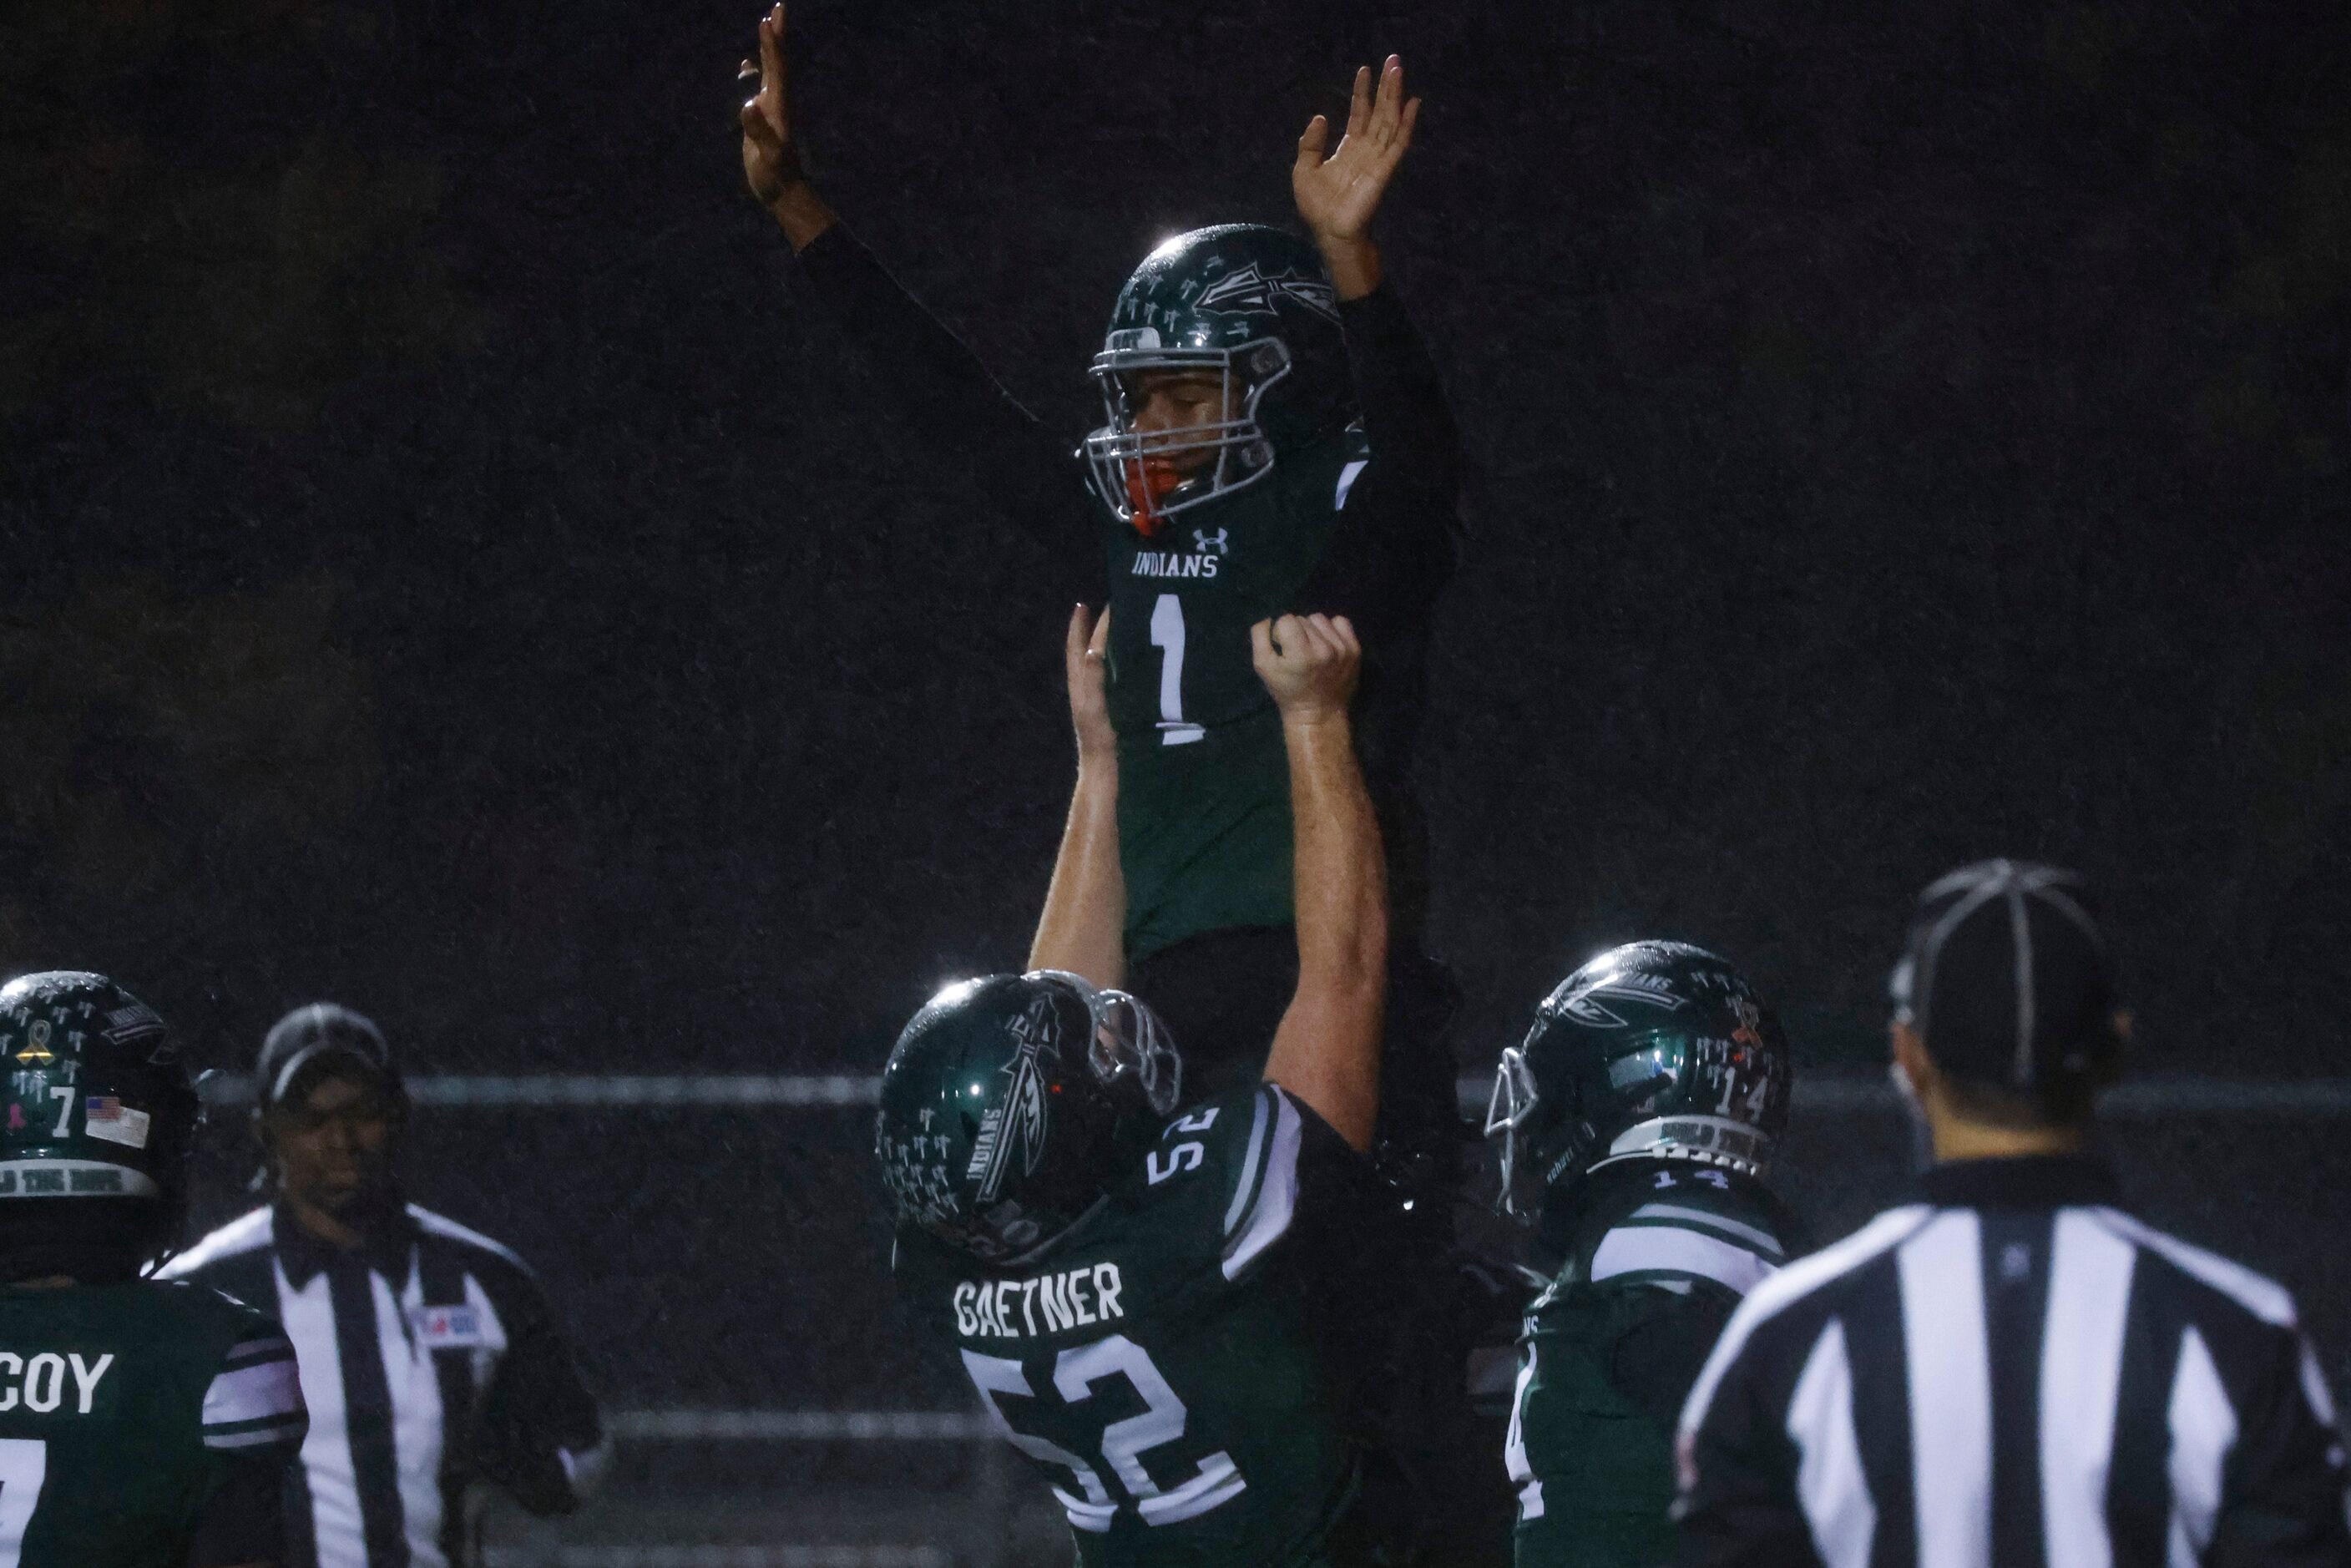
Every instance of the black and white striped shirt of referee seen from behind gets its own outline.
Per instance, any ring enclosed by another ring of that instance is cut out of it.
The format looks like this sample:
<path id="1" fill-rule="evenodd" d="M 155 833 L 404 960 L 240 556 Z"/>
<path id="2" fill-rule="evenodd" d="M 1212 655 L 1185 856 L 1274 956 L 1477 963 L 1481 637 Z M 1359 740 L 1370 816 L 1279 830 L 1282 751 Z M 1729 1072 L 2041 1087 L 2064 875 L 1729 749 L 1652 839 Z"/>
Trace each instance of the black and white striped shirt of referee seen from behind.
<path id="1" fill-rule="evenodd" d="M 1937 1166 L 1756 1286 L 1679 1453 L 1690 1563 L 2351 1563 L 2292 1298 L 2088 1159 Z"/>

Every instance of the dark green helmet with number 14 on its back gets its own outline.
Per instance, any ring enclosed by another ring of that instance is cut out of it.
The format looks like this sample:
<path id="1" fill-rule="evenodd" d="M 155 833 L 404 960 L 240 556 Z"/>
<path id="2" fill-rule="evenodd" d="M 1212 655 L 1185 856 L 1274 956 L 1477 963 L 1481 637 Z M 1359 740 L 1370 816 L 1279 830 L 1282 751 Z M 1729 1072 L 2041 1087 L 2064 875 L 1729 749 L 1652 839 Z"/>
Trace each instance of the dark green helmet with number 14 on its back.
<path id="1" fill-rule="evenodd" d="M 1763 1175 L 1787 1098 L 1787 1037 L 1747 976 L 1688 943 L 1610 947 L 1502 1051 L 1486 1107 L 1502 1208 L 1533 1218 L 1625 1159 Z"/>

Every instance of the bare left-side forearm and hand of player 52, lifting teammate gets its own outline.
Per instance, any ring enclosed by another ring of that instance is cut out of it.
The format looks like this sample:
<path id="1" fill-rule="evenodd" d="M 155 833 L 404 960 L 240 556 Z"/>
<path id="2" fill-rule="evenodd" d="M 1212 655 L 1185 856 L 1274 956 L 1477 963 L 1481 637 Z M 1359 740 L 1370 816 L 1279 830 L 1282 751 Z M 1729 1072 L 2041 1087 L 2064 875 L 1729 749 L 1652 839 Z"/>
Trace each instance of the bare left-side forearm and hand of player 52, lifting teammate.
<path id="1" fill-rule="evenodd" d="M 1110 611 L 1070 611 L 1063 665 L 1077 729 L 1077 790 L 1060 830 L 1053 886 L 1037 917 L 1030 969 L 1067 969 L 1096 987 L 1126 985 L 1126 872 L 1119 870 L 1119 741 L 1103 698 Z"/>

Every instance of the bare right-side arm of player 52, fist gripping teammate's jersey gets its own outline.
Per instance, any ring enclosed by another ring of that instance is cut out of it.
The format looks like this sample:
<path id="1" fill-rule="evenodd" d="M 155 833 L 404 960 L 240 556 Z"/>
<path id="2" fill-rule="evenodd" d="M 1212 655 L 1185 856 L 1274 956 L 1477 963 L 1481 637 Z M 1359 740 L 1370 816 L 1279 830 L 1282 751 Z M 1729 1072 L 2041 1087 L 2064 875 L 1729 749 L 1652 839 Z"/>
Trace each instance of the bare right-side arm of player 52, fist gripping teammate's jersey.
<path id="1" fill-rule="evenodd" d="M 1298 992 L 1265 1077 L 1368 1150 L 1387 1001 L 1387 860 L 1347 719 L 1364 651 L 1345 616 L 1281 616 L 1248 637 L 1258 679 L 1281 708 L 1295 820 Z"/>

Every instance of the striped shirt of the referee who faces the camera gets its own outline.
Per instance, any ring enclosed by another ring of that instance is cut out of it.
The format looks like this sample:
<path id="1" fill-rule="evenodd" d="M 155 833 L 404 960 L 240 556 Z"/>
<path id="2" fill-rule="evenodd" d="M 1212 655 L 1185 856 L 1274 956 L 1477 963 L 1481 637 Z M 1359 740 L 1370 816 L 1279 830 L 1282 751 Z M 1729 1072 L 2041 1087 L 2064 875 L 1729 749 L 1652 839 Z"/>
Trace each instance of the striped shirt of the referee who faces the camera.
<path id="1" fill-rule="evenodd" d="M 310 1436 L 289 1568 L 458 1568 L 470 1483 L 567 1512 L 600 1443 L 522 1260 L 414 1204 L 388 1232 L 343 1251 L 256 1208 L 165 1269 L 270 1312 L 294 1342 Z"/>

